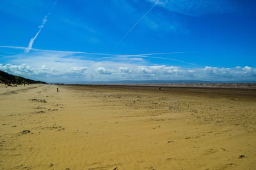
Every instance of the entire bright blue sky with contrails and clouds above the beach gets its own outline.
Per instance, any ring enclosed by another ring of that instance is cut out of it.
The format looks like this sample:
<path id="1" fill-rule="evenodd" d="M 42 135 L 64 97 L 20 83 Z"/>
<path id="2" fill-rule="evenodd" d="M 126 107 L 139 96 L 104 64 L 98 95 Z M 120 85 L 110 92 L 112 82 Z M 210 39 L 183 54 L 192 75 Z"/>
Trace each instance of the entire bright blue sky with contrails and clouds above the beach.
<path id="1" fill-rule="evenodd" d="M 255 1 L 0 3 L 0 69 L 11 74 L 47 82 L 256 80 Z"/>

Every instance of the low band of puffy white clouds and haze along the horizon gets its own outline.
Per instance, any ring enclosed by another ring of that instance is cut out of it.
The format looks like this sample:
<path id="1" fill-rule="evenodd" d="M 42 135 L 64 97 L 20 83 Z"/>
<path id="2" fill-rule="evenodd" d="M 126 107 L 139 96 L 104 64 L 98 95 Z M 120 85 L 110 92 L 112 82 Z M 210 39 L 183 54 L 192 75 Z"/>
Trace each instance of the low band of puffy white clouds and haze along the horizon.
<path id="1" fill-rule="evenodd" d="M 82 63 L 83 62 L 83 63 Z M 51 82 L 111 81 L 111 80 L 207 80 L 207 81 L 255 81 L 256 67 L 202 67 L 143 66 L 140 64 L 108 64 L 80 61 L 80 66 L 57 63 L 54 67 L 38 64 L 1 64 L 0 69 L 10 74 Z M 157 76 L 156 76 L 157 75 Z"/>

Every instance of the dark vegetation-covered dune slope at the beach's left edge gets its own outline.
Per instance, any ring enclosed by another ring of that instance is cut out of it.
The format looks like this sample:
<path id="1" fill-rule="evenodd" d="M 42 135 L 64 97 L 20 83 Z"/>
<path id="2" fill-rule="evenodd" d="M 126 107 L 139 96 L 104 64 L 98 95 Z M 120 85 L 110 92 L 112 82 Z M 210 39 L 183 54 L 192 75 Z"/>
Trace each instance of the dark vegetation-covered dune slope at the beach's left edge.
<path id="1" fill-rule="evenodd" d="M 35 81 L 35 80 L 30 80 L 28 78 L 23 78 L 20 76 L 13 76 L 12 74 L 8 74 L 4 71 L 0 70 L 0 83 L 13 83 L 13 84 L 36 84 L 36 83 L 42 83 L 46 84 L 43 81 Z"/>

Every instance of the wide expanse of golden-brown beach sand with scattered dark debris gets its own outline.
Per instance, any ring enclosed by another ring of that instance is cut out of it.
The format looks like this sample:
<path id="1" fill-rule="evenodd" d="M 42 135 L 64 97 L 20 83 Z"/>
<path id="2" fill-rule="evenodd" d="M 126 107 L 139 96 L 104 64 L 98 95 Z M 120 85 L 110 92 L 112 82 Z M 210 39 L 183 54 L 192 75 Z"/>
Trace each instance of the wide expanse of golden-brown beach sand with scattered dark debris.
<path id="1" fill-rule="evenodd" d="M 255 89 L 162 90 L 2 85 L 0 169 L 255 169 Z"/>

